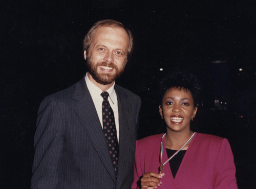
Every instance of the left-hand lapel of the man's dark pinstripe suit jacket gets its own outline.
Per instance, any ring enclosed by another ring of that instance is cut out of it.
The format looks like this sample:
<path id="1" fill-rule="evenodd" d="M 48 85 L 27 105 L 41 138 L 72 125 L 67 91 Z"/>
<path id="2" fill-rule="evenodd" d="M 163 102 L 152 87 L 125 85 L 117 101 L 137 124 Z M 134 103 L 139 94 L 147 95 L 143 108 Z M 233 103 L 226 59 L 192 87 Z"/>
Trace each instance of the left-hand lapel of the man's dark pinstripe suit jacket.
<path id="1" fill-rule="evenodd" d="M 106 140 L 100 125 L 97 111 L 84 78 L 77 83 L 73 98 L 78 101 L 74 110 L 84 130 L 88 133 L 88 137 L 90 138 L 102 163 L 106 170 L 108 170 L 113 181 L 116 183 L 115 171 L 112 166 L 113 162 L 109 155 L 108 147 L 106 146 Z"/>

